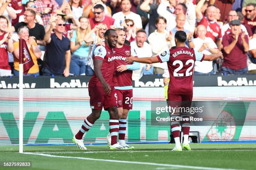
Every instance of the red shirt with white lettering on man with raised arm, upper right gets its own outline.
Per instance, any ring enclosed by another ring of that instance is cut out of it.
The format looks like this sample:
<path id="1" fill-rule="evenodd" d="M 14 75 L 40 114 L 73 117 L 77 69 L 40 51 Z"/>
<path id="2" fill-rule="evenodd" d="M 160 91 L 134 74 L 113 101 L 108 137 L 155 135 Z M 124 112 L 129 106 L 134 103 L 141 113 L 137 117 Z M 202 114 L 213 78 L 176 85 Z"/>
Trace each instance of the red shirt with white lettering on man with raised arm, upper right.
<path id="1" fill-rule="evenodd" d="M 197 25 L 204 25 L 206 28 L 206 37 L 212 38 L 214 42 L 217 41 L 218 38 L 221 38 L 221 29 L 220 25 L 216 21 L 208 21 L 207 18 L 203 15 L 203 18 Z"/>

